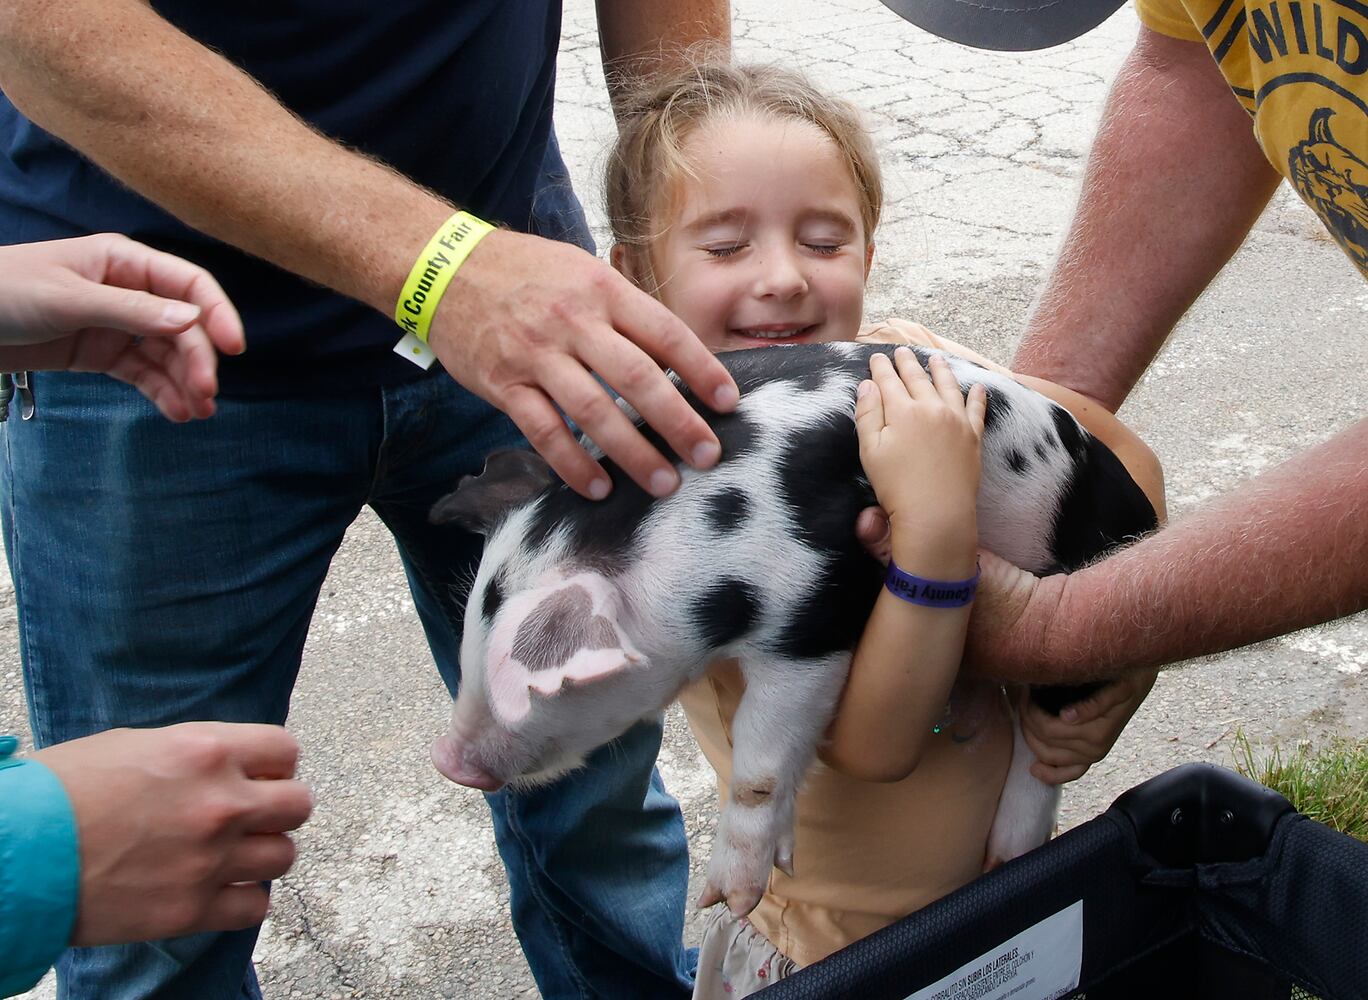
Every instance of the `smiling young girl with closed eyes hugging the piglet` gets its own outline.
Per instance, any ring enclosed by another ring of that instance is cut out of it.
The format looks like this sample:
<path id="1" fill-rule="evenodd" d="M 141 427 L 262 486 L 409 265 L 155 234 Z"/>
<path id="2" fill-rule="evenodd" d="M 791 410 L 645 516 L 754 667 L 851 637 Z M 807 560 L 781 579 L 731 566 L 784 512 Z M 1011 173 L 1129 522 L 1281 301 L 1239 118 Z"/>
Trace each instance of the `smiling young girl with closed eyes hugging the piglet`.
<path id="1" fill-rule="evenodd" d="M 698 66 L 639 94 L 624 118 L 607 178 L 613 263 L 713 350 L 856 339 L 881 197 L 873 145 L 850 105 L 784 70 Z M 915 324 L 863 337 L 990 365 Z M 1077 394 L 1022 382 L 1109 445 L 1161 516 L 1157 464 L 1134 435 Z M 944 361 L 928 376 L 911 352 L 874 357 L 856 427 L 900 569 L 947 583 L 974 576 L 982 421 L 981 390 L 962 398 Z M 880 595 L 824 763 L 799 796 L 795 874 L 773 870 L 748 921 L 717 908 L 695 997 L 747 996 L 984 870 L 1012 736 L 1000 687 L 955 683 L 967 622 L 969 605 Z M 724 798 L 741 684 L 735 663 L 720 662 L 681 695 Z M 1140 684 L 1094 741 L 1074 740 L 1052 762 L 1100 759 L 1146 691 Z"/>

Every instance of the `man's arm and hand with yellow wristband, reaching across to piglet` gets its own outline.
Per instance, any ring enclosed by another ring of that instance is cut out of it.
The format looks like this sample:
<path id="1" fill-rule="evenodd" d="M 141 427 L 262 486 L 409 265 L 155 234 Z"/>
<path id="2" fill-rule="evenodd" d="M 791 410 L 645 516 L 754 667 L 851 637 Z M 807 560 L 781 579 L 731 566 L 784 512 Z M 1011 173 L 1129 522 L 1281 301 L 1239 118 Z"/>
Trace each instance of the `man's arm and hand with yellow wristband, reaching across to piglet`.
<path id="1" fill-rule="evenodd" d="M 190 226 L 384 315 L 453 211 L 313 131 L 140 0 L 0 5 L 0 86 L 34 122 Z M 595 480 L 606 488 L 606 479 L 553 404 L 643 486 L 659 492 L 677 482 L 592 372 L 703 465 L 715 460 L 717 439 L 657 363 L 705 401 L 726 408 L 736 395 L 668 309 L 590 254 L 516 233 L 476 248 L 430 339 L 454 378 L 505 409 L 584 492 Z"/>

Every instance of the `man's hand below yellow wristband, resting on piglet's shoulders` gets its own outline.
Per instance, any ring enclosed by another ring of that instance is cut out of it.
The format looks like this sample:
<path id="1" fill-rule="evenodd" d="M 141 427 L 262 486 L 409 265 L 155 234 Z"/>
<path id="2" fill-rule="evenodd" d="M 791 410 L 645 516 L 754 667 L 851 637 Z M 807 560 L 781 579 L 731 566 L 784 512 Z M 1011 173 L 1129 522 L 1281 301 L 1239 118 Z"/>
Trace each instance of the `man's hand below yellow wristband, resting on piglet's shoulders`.
<path id="1" fill-rule="evenodd" d="M 598 379 L 700 469 L 717 464 L 721 446 L 662 365 L 718 412 L 739 399 L 732 376 L 674 313 L 577 246 L 518 233 L 497 230 L 480 241 L 451 280 L 428 342 L 456 379 L 508 413 L 561 479 L 591 499 L 606 497 L 611 483 L 560 410 L 651 495 L 665 497 L 680 482 Z"/>

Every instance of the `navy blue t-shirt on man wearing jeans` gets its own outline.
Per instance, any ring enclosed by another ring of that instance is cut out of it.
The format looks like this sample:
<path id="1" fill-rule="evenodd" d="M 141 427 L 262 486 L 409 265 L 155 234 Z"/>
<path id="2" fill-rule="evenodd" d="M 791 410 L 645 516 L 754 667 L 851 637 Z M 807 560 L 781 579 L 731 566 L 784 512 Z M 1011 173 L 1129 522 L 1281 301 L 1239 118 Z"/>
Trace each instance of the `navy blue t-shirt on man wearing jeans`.
<path id="1" fill-rule="evenodd" d="M 587 242 L 551 133 L 560 0 L 155 7 L 323 134 L 483 219 Z M 178 253 L 219 279 L 248 331 L 246 354 L 220 365 L 226 393 L 387 384 L 421 373 L 393 353 L 401 337 L 393 319 L 183 226 L 0 94 L 0 241 L 103 231 Z"/>

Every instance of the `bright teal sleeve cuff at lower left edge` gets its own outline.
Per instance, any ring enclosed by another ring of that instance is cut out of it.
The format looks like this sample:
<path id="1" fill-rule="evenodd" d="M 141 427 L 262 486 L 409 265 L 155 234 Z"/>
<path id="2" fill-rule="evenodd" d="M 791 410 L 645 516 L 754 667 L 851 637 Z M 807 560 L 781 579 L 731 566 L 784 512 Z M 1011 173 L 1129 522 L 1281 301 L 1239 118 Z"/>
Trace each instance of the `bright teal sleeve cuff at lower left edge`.
<path id="1" fill-rule="evenodd" d="M 57 776 L 0 736 L 0 996 L 31 988 L 71 937 L 81 854 Z"/>

